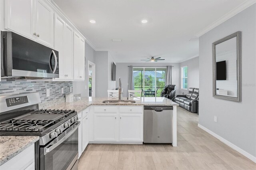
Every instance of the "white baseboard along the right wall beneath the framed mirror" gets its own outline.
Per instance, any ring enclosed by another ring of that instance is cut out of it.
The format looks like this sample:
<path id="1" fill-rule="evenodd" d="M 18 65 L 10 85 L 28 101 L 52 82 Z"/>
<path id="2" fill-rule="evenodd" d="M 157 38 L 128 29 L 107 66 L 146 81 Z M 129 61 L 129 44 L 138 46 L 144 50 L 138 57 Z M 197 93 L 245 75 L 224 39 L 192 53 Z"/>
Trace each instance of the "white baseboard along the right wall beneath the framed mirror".
<path id="1" fill-rule="evenodd" d="M 247 158 L 249 158 L 250 160 L 252 160 L 253 162 L 256 163 L 256 157 L 249 154 L 248 152 L 246 152 L 245 150 L 242 150 L 241 148 L 239 148 L 238 146 L 236 146 L 235 144 L 232 144 L 231 142 L 229 142 L 228 140 L 222 138 L 221 136 L 219 136 L 218 134 L 212 132 L 211 130 L 209 130 L 208 128 L 198 124 L 198 127 L 202 128 L 203 130 L 205 130 L 206 132 L 208 132 L 209 134 L 211 134 L 212 136 L 216 137 L 218 140 L 222 141 L 224 144 L 228 145 L 230 148 L 236 150 L 237 152 L 239 152 L 240 154 L 246 156 Z"/>

